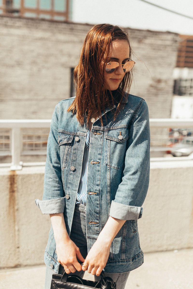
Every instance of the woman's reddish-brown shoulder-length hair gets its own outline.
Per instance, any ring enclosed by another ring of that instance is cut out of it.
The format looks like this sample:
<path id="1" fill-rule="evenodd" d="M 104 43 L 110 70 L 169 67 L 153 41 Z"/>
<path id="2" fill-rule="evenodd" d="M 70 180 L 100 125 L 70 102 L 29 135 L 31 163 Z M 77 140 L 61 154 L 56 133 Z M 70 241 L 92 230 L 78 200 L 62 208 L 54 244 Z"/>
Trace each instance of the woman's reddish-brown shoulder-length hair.
<path id="1" fill-rule="evenodd" d="M 81 125 L 84 124 L 85 116 L 88 123 L 91 113 L 97 112 L 103 126 L 101 114 L 102 112 L 105 114 L 107 106 L 113 108 L 114 104 L 118 103 L 116 110 L 114 110 L 114 120 L 124 106 L 122 99 L 124 92 L 128 92 L 130 89 L 133 78 L 132 70 L 125 74 L 118 92 L 114 94 L 110 91 L 104 78 L 105 66 L 102 69 L 101 65 L 102 59 L 105 63 L 108 60 L 113 40 L 126 40 L 130 47 L 128 33 L 120 27 L 110 24 L 95 25 L 89 30 L 84 40 L 79 63 L 74 68 L 76 97 L 68 108 L 68 112 L 76 113 L 77 120 Z M 130 59 L 131 53 L 130 48 Z"/>

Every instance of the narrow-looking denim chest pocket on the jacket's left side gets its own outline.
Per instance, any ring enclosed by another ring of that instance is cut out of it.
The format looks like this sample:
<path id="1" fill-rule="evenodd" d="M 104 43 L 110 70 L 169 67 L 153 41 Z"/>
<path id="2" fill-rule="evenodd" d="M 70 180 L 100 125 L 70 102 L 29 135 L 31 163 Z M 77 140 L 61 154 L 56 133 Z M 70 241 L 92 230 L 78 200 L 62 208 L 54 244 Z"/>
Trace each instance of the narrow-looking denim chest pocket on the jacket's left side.
<path id="1" fill-rule="evenodd" d="M 73 145 L 73 132 L 58 130 L 58 144 L 60 147 L 60 162 L 62 168 L 66 167 L 68 156 Z"/>

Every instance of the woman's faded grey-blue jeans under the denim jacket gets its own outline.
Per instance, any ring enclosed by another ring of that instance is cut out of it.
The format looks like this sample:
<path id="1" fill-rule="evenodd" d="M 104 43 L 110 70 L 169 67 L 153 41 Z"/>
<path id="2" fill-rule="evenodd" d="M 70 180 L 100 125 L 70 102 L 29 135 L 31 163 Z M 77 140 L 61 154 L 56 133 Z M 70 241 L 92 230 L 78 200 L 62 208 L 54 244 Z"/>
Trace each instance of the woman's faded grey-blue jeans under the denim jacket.
<path id="1" fill-rule="evenodd" d="M 75 206 L 70 238 L 78 246 L 78 248 L 80 249 L 80 253 L 85 259 L 87 256 L 86 206 L 84 206 L 83 204 L 76 204 Z M 52 269 L 46 267 L 45 289 L 50 289 L 53 273 L 54 272 L 52 271 Z M 63 267 L 60 265 L 59 274 L 62 273 Z M 130 271 L 124 273 L 105 273 L 105 276 L 111 277 L 113 281 L 116 281 L 119 277 L 116 283 L 116 289 L 124 289 L 129 273 Z M 76 271 L 75 273 L 70 274 L 75 274 L 82 278 L 84 276 L 84 271 Z M 99 281 L 100 276 L 94 275 L 94 279 L 95 281 Z"/>

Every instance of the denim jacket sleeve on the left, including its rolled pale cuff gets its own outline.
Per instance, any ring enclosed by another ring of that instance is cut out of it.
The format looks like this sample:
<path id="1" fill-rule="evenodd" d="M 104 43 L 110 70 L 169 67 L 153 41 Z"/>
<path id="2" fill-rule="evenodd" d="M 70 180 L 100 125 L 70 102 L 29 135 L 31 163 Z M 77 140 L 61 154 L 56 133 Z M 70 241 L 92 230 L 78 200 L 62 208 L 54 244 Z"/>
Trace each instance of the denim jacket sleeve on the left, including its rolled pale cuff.
<path id="1" fill-rule="evenodd" d="M 58 145 L 58 104 L 55 107 L 47 141 L 43 200 L 35 200 L 43 214 L 63 213 L 65 197 Z"/>

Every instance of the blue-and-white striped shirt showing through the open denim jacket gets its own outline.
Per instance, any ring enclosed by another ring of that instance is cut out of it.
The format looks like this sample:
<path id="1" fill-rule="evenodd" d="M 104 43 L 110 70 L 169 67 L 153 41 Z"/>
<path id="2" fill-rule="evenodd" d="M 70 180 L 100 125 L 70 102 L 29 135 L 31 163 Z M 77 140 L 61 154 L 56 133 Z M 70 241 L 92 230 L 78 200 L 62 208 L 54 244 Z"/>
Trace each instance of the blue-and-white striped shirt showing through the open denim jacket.
<path id="1" fill-rule="evenodd" d="M 78 187 L 78 193 L 76 196 L 76 204 L 81 203 L 83 205 L 86 205 L 87 201 L 87 168 L 89 158 L 89 142 L 90 142 L 90 130 L 88 129 L 82 161 L 82 172 L 80 175 L 80 183 Z"/>

